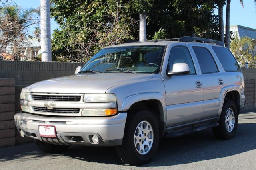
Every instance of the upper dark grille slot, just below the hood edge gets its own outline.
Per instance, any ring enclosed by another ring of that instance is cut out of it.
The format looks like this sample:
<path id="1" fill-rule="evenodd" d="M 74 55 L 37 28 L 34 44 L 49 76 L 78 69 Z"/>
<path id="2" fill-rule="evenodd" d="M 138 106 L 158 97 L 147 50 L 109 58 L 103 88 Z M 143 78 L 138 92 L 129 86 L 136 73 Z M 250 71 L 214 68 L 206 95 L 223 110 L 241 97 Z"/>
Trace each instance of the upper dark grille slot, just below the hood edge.
<path id="1" fill-rule="evenodd" d="M 69 102 L 79 102 L 81 96 L 59 96 L 59 95 L 32 95 L 34 100 L 52 100 L 52 101 L 69 101 Z"/>

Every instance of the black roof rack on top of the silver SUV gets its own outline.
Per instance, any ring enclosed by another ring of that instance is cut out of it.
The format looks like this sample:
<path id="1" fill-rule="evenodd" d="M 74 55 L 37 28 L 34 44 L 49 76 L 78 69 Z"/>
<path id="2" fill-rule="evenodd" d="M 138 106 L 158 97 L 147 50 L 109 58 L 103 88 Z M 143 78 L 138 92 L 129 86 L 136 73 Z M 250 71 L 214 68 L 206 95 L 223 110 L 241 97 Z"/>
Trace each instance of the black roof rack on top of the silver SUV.
<path id="1" fill-rule="evenodd" d="M 209 43 L 209 44 L 216 44 L 220 46 L 225 46 L 224 43 L 221 41 L 213 40 L 213 39 L 207 39 L 207 38 L 199 38 L 199 37 L 180 37 L 180 38 L 168 38 L 168 39 L 152 39 L 152 40 L 147 40 L 147 41 L 138 41 L 138 40 L 131 40 L 127 41 L 126 43 L 142 43 L 142 42 L 158 42 L 158 41 L 179 41 L 179 42 L 202 42 L 202 43 Z"/>

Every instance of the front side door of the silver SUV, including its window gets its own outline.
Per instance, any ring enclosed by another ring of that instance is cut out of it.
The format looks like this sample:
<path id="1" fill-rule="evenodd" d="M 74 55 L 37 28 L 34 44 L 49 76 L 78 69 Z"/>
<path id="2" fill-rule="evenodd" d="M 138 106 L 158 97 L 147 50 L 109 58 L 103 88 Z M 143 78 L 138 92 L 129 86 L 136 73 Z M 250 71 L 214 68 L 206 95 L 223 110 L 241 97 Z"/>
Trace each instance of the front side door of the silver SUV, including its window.
<path id="1" fill-rule="evenodd" d="M 166 72 L 172 70 L 174 63 L 188 64 L 190 73 L 171 77 L 163 75 L 167 127 L 202 119 L 204 111 L 202 78 L 194 66 L 195 62 L 186 45 L 172 47 Z"/>

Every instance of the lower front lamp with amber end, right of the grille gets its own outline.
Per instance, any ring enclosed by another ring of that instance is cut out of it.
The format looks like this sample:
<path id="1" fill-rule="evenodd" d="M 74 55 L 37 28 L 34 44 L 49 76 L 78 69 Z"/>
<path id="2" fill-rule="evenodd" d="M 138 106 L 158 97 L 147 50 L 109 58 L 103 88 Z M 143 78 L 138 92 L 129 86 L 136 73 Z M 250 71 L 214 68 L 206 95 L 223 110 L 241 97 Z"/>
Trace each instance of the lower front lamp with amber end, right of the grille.
<path id="1" fill-rule="evenodd" d="M 84 109 L 82 116 L 111 116 L 117 113 L 117 109 Z"/>

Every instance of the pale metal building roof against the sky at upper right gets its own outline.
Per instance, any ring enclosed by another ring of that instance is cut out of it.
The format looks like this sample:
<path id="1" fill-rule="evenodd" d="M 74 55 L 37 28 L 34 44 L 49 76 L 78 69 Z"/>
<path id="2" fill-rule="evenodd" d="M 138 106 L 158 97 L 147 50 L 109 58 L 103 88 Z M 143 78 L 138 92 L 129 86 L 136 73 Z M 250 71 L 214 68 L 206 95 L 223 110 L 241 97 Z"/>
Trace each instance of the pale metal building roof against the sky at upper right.
<path id="1" fill-rule="evenodd" d="M 249 37 L 256 39 L 256 29 L 244 27 L 241 25 L 230 25 L 230 31 L 234 32 L 238 38 Z"/>

